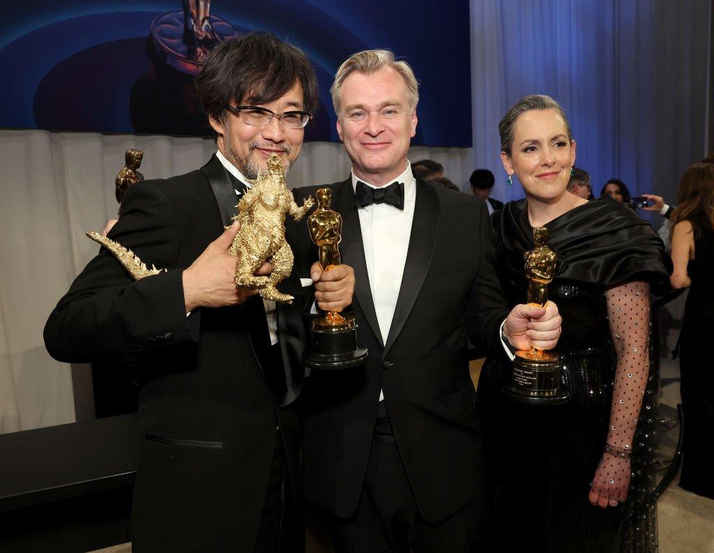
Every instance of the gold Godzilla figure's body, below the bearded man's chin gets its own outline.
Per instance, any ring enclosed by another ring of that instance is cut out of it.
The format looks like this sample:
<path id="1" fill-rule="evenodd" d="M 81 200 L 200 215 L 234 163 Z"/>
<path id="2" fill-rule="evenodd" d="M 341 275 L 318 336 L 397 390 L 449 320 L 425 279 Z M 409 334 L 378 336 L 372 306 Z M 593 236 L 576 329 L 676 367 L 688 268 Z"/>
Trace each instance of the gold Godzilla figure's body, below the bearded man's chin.
<path id="1" fill-rule="evenodd" d="M 293 297 L 277 289 L 293 269 L 293 251 L 285 239 L 285 217 L 291 215 L 299 221 L 313 206 L 308 197 L 298 206 L 285 182 L 285 170 L 276 154 L 268 157 L 266 171 L 258 174 L 256 181 L 236 206 L 233 217 L 241 223 L 228 253 L 237 256 L 236 286 L 257 289 L 263 299 L 292 303 Z M 270 276 L 256 276 L 255 272 L 269 261 L 273 265 Z"/>

